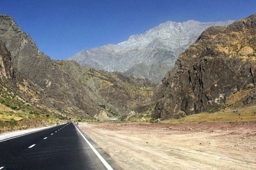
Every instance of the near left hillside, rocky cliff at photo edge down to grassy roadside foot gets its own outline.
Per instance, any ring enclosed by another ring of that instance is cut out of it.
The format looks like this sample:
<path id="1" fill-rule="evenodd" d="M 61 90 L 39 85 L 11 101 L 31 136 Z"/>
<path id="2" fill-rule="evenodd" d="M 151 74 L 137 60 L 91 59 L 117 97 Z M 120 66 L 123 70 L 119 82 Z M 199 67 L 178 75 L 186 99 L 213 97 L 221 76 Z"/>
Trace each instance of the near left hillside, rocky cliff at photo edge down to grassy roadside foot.
<path id="1" fill-rule="evenodd" d="M 66 118 L 63 115 L 50 112 L 50 108 L 43 105 L 28 102 L 34 97 L 33 91 L 39 89 L 28 85 L 29 80 L 17 75 L 11 62 L 11 53 L 2 41 L 0 41 L 0 72 L 0 133 L 64 122 Z"/>

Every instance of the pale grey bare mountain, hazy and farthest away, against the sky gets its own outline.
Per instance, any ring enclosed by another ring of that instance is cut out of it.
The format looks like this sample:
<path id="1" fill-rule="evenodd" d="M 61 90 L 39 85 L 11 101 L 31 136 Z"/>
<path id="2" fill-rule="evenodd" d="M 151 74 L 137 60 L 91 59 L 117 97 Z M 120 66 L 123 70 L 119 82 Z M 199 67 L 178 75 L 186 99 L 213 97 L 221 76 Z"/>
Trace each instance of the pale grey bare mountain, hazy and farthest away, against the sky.
<path id="1" fill-rule="evenodd" d="M 68 60 L 98 70 L 119 71 L 159 83 L 179 54 L 193 44 L 199 35 L 213 25 L 227 26 L 234 21 L 183 23 L 167 21 L 143 34 L 132 35 L 119 44 L 82 50 Z"/>

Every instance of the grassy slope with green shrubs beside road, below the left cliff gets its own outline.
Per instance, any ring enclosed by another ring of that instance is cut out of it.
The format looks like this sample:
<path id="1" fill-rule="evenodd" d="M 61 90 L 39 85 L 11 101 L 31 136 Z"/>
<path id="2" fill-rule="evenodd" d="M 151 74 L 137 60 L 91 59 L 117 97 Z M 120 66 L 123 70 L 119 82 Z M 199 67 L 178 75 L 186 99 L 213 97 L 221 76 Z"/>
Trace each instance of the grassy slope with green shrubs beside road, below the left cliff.
<path id="1" fill-rule="evenodd" d="M 0 82 L 0 131 L 10 129 L 26 129 L 28 127 L 55 124 L 65 120 L 64 117 L 54 116 L 52 113 L 35 107 L 19 97 L 17 92 L 3 82 Z M 35 122 L 30 124 L 28 122 Z"/>

